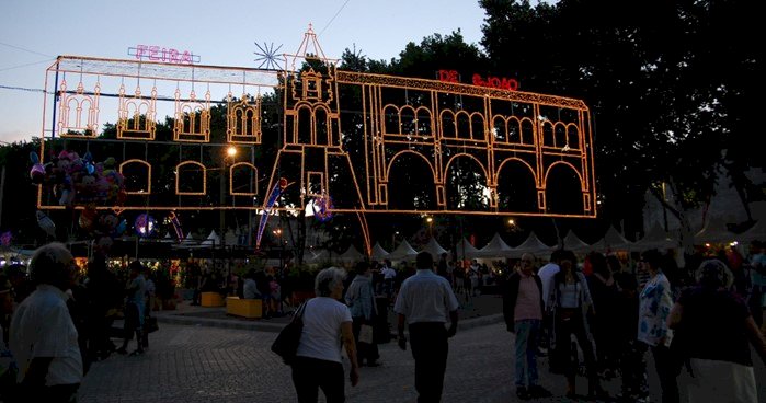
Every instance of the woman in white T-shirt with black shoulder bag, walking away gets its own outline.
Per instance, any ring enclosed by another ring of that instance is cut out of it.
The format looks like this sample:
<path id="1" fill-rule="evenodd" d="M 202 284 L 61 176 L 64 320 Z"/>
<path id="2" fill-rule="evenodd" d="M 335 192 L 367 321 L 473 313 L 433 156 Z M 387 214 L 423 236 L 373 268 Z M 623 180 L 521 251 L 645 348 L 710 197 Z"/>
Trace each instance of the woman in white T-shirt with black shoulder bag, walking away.
<path id="1" fill-rule="evenodd" d="M 319 389 L 328 403 L 345 401 L 341 345 L 351 361 L 351 385 L 359 381 L 351 311 L 339 302 L 345 275 L 338 267 L 319 272 L 315 280 L 317 298 L 306 301 L 304 332 L 291 364 L 299 403 L 317 402 Z"/>

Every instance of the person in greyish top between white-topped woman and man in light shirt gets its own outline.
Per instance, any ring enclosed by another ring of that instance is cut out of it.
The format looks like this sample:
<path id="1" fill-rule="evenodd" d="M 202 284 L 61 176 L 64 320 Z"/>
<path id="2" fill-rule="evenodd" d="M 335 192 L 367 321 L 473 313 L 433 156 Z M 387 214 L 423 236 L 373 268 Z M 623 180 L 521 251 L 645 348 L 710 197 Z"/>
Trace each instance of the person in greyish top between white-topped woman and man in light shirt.
<path id="1" fill-rule="evenodd" d="M 359 262 L 354 268 L 356 276 L 351 281 L 348 290 L 345 295 L 345 301 L 351 310 L 353 319 L 354 339 L 356 341 L 356 355 L 359 366 L 365 365 L 367 360 L 368 367 L 377 367 L 380 365 L 377 360 L 380 358 L 378 345 L 373 343 L 359 342 L 359 331 L 362 325 L 373 326 L 377 316 L 377 307 L 375 303 L 375 292 L 373 291 L 373 269 L 367 262 Z"/>

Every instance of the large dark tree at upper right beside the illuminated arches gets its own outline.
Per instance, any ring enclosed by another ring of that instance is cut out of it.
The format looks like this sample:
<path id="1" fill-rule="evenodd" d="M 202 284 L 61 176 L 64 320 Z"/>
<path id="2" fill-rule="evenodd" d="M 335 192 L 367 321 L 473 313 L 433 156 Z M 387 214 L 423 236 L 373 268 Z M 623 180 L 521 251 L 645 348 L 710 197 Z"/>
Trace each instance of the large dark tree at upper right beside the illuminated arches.
<path id="1" fill-rule="evenodd" d="M 482 44 L 493 65 L 519 71 L 527 89 L 580 97 L 593 108 L 601 212 L 611 222 L 640 217 L 649 189 L 688 239 L 686 211 L 713 195 L 720 164 L 752 188 L 742 171 L 763 159 L 732 141 L 755 128 L 747 106 L 756 95 L 740 77 L 754 79 L 763 65 L 744 45 L 757 24 L 733 20 L 748 14 L 743 2 L 481 4 Z M 711 64 L 723 73 L 710 73 Z M 740 93 L 750 96 L 744 107 L 732 96 Z"/>

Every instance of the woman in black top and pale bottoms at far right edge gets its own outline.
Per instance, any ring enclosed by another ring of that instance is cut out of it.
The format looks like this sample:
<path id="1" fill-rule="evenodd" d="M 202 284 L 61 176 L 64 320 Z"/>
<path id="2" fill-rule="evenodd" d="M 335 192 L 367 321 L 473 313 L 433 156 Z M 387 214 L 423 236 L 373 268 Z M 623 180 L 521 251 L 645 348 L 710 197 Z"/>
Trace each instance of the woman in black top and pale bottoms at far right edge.
<path id="1" fill-rule="evenodd" d="M 750 345 L 766 364 L 766 339 L 745 302 L 730 290 L 733 275 L 723 262 L 704 261 L 696 279 L 667 319 L 685 335 L 689 402 L 757 402 Z"/>

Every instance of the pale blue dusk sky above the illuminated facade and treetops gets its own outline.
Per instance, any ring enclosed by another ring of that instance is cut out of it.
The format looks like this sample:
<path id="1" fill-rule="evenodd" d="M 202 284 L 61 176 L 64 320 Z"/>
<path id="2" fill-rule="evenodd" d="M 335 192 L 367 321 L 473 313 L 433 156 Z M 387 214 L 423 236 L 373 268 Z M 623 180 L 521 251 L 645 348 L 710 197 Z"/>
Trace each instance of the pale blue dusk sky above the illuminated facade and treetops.
<path id="1" fill-rule="evenodd" d="M 390 60 L 409 42 L 458 28 L 478 45 L 483 20 L 478 0 L 2 0 L 0 141 L 42 135 L 45 71 L 58 55 L 133 59 L 128 48 L 156 45 L 202 65 L 259 67 L 254 43 L 293 54 L 312 24 L 329 58 L 355 46 Z"/>

